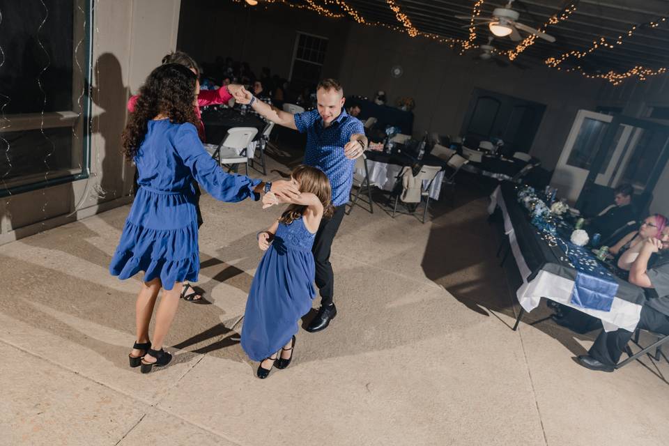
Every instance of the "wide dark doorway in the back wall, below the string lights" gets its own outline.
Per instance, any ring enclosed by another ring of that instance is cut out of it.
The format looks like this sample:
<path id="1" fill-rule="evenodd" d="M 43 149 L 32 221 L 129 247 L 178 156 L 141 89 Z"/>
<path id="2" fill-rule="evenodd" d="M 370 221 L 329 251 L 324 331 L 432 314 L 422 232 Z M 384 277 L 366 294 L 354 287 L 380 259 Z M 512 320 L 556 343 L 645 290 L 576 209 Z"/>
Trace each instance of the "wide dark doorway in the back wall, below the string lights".
<path id="1" fill-rule="evenodd" d="M 529 152 L 546 105 L 484 89 L 474 89 L 461 134 L 468 146 L 502 139 L 505 151 Z"/>

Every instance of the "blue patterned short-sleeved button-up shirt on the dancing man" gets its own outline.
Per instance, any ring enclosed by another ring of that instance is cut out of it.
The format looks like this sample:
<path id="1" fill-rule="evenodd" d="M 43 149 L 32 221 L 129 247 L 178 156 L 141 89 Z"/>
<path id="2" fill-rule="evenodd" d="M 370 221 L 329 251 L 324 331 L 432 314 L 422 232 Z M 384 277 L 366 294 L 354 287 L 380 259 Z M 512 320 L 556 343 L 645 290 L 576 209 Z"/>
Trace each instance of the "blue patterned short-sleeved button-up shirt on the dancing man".
<path id="1" fill-rule="evenodd" d="M 300 133 L 307 133 L 305 164 L 318 167 L 330 178 L 332 206 L 348 202 L 355 160 L 344 155 L 344 146 L 352 134 L 364 134 L 362 123 L 342 109 L 330 127 L 323 128 L 323 118 L 318 110 L 312 110 L 295 114 L 295 127 Z"/>

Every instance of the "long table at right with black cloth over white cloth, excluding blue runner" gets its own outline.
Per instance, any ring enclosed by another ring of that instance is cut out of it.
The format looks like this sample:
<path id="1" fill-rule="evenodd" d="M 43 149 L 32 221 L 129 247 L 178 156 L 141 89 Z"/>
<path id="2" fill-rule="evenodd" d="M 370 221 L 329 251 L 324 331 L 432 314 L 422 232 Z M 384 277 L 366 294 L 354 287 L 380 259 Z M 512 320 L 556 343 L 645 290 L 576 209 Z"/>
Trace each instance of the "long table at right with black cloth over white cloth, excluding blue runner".
<path id="1" fill-rule="evenodd" d="M 528 211 L 516 199 L 517 188 L 508 181 L 500 183 L 491 195 L 488 209 L 492 214 L 500 208 L 510 249 L 523 279 L 523 284 L 516 291 L 522 307 L 516 327 L 523 312 L 531 312 L 539 306 L 543 297 L 599 318 L 606 331 L 623 328 L 633 332 L 645 302 L 643 289 L 613 276 L 618 288 L 610 311 L 574 305 L 571 296 L 577 271 L 569 265 L 560 247 L 550 246 L 532 226 Z"/>

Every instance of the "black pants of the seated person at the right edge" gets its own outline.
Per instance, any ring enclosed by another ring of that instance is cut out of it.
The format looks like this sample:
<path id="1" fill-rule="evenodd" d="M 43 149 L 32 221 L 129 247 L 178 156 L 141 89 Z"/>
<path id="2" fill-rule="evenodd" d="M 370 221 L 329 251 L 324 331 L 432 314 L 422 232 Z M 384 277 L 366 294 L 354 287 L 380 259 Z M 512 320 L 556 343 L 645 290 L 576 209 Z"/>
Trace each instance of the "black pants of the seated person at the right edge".
<path id="1" fill-rule="evenodd" d="M 669 316 L 644 305 L 637 326 L 657 334 L 669 334 Z M 603 364 L 615 366 L 631 337 L 632 333 L 627 330 L 619 329 L 615 332 L 601 330 L 587 353 Z"/>

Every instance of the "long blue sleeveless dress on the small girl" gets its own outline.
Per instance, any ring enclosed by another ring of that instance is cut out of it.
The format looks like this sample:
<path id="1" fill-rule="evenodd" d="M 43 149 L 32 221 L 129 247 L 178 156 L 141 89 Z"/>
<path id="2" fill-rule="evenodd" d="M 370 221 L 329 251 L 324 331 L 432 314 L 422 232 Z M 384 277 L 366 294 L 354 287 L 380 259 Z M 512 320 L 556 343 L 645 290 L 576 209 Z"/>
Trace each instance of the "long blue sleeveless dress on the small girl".
<path id="1" fill-rule="evenodd" d="M 242 326 L 242 348 L 254 361 L 277 353 L 298 332 L 298 321 L 316 296 L 314 236 L 302 218 L 279 223 L 251 284 Z"/>

